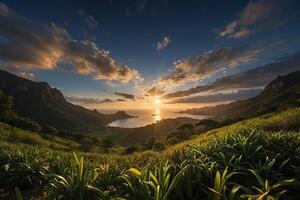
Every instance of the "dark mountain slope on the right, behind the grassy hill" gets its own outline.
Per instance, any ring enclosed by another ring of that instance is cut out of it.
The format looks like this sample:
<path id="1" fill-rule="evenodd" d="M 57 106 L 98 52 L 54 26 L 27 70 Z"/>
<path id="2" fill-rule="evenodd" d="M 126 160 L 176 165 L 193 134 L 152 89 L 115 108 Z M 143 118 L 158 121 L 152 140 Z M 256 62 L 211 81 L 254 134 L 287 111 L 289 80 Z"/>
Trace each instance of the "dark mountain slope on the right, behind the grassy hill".
<path id="1" fill-rule="evenodd" d="M 300 106 L 300 71 L 278 76 L 255 97 L 213 107 L 193 108 L 181 113 L 209 115 L 218 120 L 250 118 Z"/>

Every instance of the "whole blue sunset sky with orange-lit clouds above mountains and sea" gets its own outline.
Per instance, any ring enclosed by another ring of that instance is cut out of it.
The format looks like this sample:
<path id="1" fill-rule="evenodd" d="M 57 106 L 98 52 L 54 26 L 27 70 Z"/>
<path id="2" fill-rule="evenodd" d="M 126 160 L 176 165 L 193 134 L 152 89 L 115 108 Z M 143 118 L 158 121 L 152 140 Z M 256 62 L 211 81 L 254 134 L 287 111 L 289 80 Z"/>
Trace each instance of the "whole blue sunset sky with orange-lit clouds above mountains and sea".
<path id="1" fill-rule="evenodd" d="M 1 1 L 0 68 L 79 104 L 233 101 L 300 70 L 299 19 L 297 0 Z"/>

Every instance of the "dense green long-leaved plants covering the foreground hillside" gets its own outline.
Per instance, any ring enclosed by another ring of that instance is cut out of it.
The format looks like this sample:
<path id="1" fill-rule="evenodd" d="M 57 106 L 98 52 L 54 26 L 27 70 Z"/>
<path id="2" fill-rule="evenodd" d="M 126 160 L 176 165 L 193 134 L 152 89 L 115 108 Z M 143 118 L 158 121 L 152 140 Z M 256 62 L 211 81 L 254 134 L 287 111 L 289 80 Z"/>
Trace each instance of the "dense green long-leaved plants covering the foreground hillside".
<path id="1" fill-rule="evenodd" d="M 2 199 L 299 199 L 299 121 L 300 109 L 290 109 L 213 129 L 162 153 L 131 155 L 73 153 L 3 137 L 0 195 Z"/>

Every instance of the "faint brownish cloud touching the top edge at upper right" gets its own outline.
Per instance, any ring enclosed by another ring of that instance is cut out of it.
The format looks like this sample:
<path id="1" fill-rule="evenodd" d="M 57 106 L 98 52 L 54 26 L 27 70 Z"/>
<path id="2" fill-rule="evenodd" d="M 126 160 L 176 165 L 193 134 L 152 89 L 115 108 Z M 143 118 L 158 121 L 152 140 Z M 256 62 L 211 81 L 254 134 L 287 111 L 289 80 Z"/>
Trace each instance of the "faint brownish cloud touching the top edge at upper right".
<path id="1" fill-rule="evenodd" d="M 274 25 L 274 17 L 286 4 L 283 0 L 251 1 L 241 12 L 238 19 L 230 22 L 222 32 L 221 37 L 240 39 Z"/>

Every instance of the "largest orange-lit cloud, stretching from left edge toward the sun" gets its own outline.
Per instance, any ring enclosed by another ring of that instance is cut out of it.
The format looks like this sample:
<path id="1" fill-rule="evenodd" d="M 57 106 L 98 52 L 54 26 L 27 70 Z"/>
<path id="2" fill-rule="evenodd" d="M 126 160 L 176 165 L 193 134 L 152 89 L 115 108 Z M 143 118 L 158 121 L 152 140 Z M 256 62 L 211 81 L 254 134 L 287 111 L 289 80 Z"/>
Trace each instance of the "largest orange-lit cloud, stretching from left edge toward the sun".
<path id="1" fill-rule="evenodd" d="M 94 42 L 74 40 L 55 24 L 36 24 L 5 4 L 0 4 L 0 27 L 0 61 L 6 66 L 50 70 L 66 63 L 97 80 L 142 80 L 137 70 L 119 64 Z"/>

